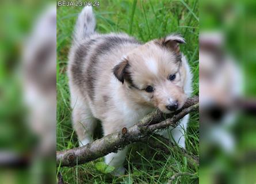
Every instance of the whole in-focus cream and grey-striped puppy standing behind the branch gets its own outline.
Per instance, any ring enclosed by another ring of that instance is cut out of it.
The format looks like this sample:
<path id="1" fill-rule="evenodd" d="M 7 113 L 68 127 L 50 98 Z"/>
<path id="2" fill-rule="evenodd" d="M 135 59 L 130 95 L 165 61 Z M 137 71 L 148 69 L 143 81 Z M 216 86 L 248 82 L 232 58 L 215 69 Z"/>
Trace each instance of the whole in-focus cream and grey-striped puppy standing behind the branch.
<path id="1" fill-rule="evenodd" d="M 179 51 L 185 43 L 181 36 L 141 44 L 127 34 L 94 29 L 93 11 L 85 7 L 75 26 L 68 65 L 72 121 L 81 146 L 92 141 L 97 120 L 108 135 L 131 127 L 154 108 L 171 113 L 184 105 L 192 92 L 192 74 Z M 188 118 L 161 134 L 185 148 Z M 106 164 L 116 167 L 115 174 L 124 174 L 127 149 L 105 156 Z"/>

